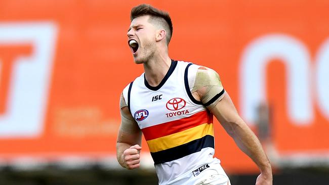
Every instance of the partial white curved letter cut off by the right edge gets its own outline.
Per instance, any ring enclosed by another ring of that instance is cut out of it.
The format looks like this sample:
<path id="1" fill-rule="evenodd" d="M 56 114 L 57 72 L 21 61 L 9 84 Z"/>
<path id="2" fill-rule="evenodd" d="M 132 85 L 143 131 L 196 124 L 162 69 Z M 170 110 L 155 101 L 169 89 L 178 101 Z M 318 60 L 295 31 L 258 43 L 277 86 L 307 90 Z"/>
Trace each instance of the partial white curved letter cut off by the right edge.
<path id="1" fill-rule="evenodd" d="M 329 120 L 329 39 L 321 45 L 315 62 L 318 104 L 322 114 Z"/>

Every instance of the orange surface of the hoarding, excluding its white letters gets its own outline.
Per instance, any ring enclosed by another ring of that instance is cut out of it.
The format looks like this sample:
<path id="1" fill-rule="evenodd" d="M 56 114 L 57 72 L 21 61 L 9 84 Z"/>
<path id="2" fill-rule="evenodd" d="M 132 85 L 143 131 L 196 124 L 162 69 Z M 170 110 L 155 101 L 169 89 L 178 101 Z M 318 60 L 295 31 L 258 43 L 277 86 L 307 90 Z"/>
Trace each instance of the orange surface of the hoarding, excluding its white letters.
<path id="1" fill-rule="evenodd" d="M 120 93 L 143 72 L 143 66 L 134 64 L 127 43 L 130 10 L 141 3 L 170 13 L 174 26 L 169 47 L 171 58 L 215 69 L 238 110 L 243 97 L 242 55 L 248 45 L 271 34 L 303 43 L 310 56 L 307 98 L 313 116 L 304 125 L 290 119 L 286 93 L 288 70 L 279 57 L 270 59 L 264 77 L 266 99 L 273 108 L 271 141 L 279 154 L 329 153 L 329 117 L 319 108 L 321 101 L 314 87 L 316 73 L 312 71 L 317 65 L 319 48 L 329 37 L 328 1 L 1 0 L 0 33 L 11 25 L 23 25 L 27 29 L 34 24 L 51 25 L 49 28 L 54 30 L 50 34 L 54 39 L 50 49 L 53 55 L 48 56 L 50 71 L 43 74 L 49 80 L 43 83 L 47 93 L 42 100 L 45 107 L 39 115 L 42 118 L 39 131 L 29 136 L 8 136 L 1 132 L 1 158 L 115 157 Z M 19 33 L 25 34 L 24 29 L 19 29 Z M 2 40 L 6 38 L 0 38 L 0 117 L 5 118 L 11 105 L 15 63 L 40 49 L 32 41 Z M 328 81 L 321 85 L 329 86 Z M 25 85 L 33 89 L 35 84 Z M 255 124 L 248 123 L 257 132 Z M 1 124 L 5 123 L 0 119 Z M 224 169 L 241 173 L 257 171 L 256 165 L 236 147 L 221 125 L 215 125 L 216 157 L 221 159 Z M 143 146 L 147 152 L 145 142 Z"/>

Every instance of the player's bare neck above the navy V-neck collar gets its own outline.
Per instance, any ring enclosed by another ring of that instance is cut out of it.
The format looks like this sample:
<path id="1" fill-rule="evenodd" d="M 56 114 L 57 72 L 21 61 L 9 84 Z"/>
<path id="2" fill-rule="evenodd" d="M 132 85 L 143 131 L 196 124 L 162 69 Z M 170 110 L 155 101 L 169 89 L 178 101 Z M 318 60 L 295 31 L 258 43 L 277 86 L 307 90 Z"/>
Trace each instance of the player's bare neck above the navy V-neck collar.
<path id="1" fill-rule="evenodd" d="M 163 55 L 154 55 L 144 63 L 145 78 L 148 84 L 157 86 L 167 74 L 170 65 L 171 59 L 166 52 Z"/>

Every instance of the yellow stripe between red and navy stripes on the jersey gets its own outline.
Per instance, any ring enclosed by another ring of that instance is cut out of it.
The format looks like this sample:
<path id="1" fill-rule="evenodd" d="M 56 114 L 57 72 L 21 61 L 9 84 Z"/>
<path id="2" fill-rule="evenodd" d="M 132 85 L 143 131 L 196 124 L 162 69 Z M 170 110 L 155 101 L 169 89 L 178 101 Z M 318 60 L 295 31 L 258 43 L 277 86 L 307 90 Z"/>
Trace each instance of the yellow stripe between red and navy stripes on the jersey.
<path id="1" fill-rule="evenodd" d="M 189 143 L 205 135 L 214 136 L 213 123 L 204 123 L 177 133 L 155 138 L 147 141 L 147 144 L 150 152 L 158 152 Z"/>

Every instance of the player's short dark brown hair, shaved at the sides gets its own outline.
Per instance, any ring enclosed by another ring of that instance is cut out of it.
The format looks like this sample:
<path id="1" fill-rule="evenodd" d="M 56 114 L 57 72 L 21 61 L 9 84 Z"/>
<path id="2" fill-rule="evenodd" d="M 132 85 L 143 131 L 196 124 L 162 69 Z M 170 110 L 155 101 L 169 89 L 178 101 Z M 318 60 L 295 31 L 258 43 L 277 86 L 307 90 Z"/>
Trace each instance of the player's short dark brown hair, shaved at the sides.
<path id="1" fill-rule="evenodd" d="M 130 13 L 130 21 L 133 21 L 135 18 L 145 15 L 150 16 L 148 22 L 154 25 L 159 25 L 161 26 L 161 28 L 166 30 L 166 38 L 168 45 L 173 35 L 173 23 L 172 19 L 169 16 L 169 13 L 156 9 L 151 5 L 142 4 L 132 9 Z"/>

